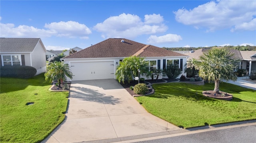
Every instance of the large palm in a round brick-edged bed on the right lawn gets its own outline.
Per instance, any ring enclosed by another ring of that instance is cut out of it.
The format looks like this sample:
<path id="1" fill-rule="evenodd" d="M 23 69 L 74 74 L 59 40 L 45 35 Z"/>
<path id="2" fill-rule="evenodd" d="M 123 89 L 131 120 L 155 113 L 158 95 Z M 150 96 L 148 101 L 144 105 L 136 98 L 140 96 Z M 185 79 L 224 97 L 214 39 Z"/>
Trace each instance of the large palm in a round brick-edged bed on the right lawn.
<path id="1" fill-rule="evenodd" d="M 238 59 L 225 48 L 214 48 L 199 57 L 199 76 L 204 80 L 214 81 L 214 93 L 220 93 L 220 80 L 236 81 L 234 69 Z"/>

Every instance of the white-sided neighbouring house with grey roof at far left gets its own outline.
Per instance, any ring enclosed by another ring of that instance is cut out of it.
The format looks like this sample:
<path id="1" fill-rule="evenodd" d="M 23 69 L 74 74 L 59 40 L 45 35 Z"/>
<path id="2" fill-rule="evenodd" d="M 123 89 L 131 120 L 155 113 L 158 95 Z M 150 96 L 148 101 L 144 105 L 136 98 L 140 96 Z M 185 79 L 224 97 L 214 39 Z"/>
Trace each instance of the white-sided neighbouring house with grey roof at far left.
<path id="1" fill-rule="evenodd" d="M 1 66 L 30 66 L 46 72 L 46 49 L 40 38 L 0 38 Z"/>

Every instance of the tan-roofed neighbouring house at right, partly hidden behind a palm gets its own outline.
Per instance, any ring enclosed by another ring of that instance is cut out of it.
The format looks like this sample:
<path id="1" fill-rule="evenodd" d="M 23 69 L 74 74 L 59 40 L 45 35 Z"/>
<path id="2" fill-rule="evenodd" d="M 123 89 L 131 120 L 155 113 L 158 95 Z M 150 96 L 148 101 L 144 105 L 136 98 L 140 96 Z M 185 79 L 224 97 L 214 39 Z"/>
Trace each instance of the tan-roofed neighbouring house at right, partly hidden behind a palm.
<path id="1" fill-rule="evenodd" d="M 216 47 L 222 48 L 222 47 Z M 210 50 L 211 48 L 202 48 L 197 49 L 195 51 L 175 51 L 177 53 L 182 53 L 184 55 L 188 55 L 188 60 L 195 58 L 199 59 L 199 56 L 202 55 L 204 52 Z M 238 51 L 231 49 L 231 52 L 234 53 L 241 61 L 239 65 L 239 69 L 246 69 L 247 75 L 251 74 L 251 71 L 256 71 L 256 51 Z"/>

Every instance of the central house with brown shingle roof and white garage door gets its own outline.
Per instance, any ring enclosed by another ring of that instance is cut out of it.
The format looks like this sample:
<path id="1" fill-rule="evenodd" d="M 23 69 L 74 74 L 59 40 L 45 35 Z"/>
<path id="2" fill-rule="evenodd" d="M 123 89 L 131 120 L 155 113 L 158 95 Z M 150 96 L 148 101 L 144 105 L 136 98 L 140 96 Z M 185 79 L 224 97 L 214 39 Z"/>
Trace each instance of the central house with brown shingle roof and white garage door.
<path id="1" fill-rule="evenodd" d="M 121 38 L 110 38 L 86 49 L 68 55 L 62 60 L 70 65 L 74 80 L 95 80 L 116 78 L 116 67 L 130 56 L 145 57 L 150 68 L 166 68 L 167 64 L 177 64 L 184 74 L 188 56 Z M 150 78 L 150 77 L 149 77 Z"/>

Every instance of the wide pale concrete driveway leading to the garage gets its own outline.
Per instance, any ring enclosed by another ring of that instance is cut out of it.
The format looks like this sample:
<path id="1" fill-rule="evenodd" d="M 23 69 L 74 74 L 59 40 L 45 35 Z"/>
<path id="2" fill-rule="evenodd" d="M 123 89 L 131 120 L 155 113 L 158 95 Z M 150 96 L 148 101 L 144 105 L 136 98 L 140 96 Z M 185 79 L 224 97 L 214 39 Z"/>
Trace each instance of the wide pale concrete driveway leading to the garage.
<path id="1" fill-rule="evenodd" d="M 146 112 L 116 80 L 83 80 L 72 82 L 66 119 L 42 142 L 116 142 L 178 130 Z"/>

